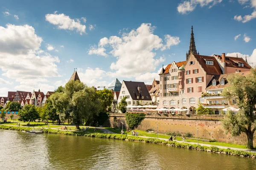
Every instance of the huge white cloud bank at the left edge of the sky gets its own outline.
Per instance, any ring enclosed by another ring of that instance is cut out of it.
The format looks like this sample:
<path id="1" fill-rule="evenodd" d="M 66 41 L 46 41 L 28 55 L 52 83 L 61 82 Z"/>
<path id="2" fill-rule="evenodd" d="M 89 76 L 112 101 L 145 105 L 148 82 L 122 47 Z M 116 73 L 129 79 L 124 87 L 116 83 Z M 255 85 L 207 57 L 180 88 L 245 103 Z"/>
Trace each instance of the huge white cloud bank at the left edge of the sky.
<path id="1" fill-rule="evenodd" d="M 32 26 L 0 26 L 2 76 L 15 79 L 20 85 L 46 82 L 46 77 L 59 77 L 55 64 L 59 59 L 40 49 L 42 41 Z"/>

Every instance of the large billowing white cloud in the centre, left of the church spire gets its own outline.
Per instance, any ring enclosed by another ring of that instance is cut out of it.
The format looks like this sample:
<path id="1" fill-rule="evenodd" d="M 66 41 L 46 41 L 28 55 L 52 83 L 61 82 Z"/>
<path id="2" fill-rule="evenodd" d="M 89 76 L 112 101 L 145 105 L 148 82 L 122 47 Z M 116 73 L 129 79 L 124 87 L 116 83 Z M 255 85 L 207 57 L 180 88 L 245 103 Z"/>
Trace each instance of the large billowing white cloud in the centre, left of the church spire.
<path id="1" fill-rule="evenodd" d="M 110 77 L 137 77 L 141 74 L 154 71 L 164 57 L 156 57 L 156 50 L 167 49 L 177 45 L 179 37 L 165 36 L 166 43 L 154 33 L 150 23 L 143 23 L 136 30 L 122 34 L 121 37 L 104 37 L 99 41 L 98 48 L 92 46 L 89 54 L 106 56 L 106 48 L 111 49 L 109 54 L 116 57 L 116 62 L 111 63 Z"/>

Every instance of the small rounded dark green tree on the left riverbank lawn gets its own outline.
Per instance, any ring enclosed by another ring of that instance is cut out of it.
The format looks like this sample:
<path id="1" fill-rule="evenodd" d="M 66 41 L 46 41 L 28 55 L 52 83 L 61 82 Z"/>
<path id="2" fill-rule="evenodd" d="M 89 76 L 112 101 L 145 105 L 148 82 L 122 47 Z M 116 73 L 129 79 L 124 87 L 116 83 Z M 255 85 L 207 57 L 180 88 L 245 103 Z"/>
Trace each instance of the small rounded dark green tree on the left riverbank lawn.
<path id="1" fill-rule="evenodd" d="M 34 105 L 25 105 L 18 113 L 19 121 L 32 122 L 39 119 L 39 114 Z"/>

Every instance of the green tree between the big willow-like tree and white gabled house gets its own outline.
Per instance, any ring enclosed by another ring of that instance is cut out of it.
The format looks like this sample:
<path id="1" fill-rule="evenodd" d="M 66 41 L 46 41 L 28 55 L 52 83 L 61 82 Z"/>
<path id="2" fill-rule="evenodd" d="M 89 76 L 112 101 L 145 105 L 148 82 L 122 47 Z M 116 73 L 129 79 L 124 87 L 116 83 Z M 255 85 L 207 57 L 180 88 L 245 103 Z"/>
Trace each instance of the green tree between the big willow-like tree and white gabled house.
<path id="1" fill-rule="evenodd" d="M 105 112 L 113 102 L 113 94 L 111 90 L 104 88 L 101 91 L 96 91 L 97 97 L 102 104 L 102 112 Z"/>

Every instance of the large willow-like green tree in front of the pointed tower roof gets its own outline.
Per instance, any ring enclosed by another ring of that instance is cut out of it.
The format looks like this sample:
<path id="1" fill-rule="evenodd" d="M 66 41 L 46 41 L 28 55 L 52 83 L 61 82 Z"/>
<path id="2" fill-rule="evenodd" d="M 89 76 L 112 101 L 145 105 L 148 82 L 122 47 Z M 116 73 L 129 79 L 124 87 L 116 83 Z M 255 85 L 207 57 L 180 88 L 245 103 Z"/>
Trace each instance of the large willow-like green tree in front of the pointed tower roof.
<path id="1" fill-rule="evenodd" d="M 89 88 L 80 81 L 69 81 L 64 92 L 50 96 L 52 105 L 62 119 L 72 119 L 76 129 L 82 121 L 102 110 L 101 102 L 96 97 L 95 88 Z"/>

